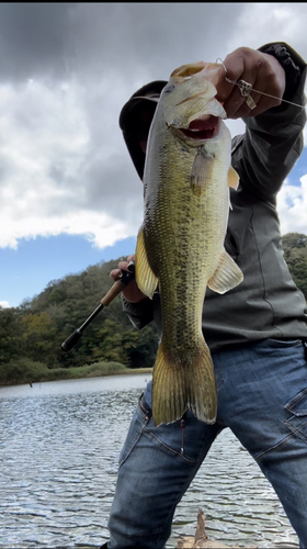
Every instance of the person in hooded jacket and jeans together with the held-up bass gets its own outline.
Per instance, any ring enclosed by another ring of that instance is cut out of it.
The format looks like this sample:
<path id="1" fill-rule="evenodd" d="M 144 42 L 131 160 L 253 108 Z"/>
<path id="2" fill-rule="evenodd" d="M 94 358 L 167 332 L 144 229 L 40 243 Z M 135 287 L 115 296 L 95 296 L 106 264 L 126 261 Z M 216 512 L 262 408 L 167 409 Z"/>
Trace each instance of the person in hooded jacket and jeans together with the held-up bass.
<path id="1" fill-rule="evenodd" d="M 144 182 L 123 307 L 160 334 L 121 453 L 102 547 L 162 548 L 175 507 L 229 427 L 307 548 L 307 307 L 283 258 L 276 195 L 303 150 L 306 63 L 239 47 L 138 90 L 120 125 Z M 230 138 L 223 119 L 242 117 Z"/>

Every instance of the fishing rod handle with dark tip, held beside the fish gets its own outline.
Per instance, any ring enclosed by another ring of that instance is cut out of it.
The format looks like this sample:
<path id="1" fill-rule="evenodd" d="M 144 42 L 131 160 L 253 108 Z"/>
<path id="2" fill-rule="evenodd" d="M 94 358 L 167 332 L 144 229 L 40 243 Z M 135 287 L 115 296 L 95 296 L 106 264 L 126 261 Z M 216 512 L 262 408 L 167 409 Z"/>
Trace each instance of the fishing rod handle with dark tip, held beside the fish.
<path id="1" fill-rule="evenodd" d="M 80 337 L 82 336 L 84 329 L 89 326 L 89 324 L 95 318 L 95 316 L 121 293 L 124 288 L 128 284 L 130 280 L 134 279 L 135 277 L 135 264 L 134 261 L 130 261 L 127 266 L 128 271 L 122 270 L 121 278 L 114 282 L 114 284 L 110 288 L 109 292 L 102 298 L 100 305 L 92 312 L 92 314 L 81 324 L 81 326 L 67 338 L 65 341 L 61 344 L 61 349 L 65 350 L 65 352 L 68 352 L 69 350 L 75 347 L 75 345 L 79 341 Z"/>

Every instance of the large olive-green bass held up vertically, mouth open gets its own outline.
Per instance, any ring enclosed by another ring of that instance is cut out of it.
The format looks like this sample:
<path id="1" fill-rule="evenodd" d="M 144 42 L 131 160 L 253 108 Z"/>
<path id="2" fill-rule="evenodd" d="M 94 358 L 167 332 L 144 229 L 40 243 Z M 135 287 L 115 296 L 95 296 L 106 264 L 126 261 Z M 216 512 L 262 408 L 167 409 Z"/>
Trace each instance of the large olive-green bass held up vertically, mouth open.
<path id="1" fill-rule="evenodd" d="M 224 293 L 242 272 L 224 248 L 231 137 L 215 99 L 217 64 L 184 65 L 171 74 L 150 126 L 144 173 L 144 223 L 136 281 L 152 299 L 159 285 L 162 338 L 152 376 L 152 417 L 172 423 L 186 410 L 216 421 L 214 366 L 202 332 L 206 288 Z"/>

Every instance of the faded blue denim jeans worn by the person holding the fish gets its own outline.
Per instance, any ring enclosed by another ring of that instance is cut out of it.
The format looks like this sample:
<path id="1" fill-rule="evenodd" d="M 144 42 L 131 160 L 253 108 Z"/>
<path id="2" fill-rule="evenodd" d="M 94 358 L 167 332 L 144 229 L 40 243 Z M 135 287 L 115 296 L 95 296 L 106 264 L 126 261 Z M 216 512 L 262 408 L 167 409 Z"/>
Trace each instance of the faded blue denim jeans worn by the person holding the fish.
<path id="1" fill-rule="evenodd" d="M 175 507 L 216 436 L 229 427 L 274 488 L 300 547 L 307 548 L 307 363 L 300 340 L 266 339 L 213 355 L 218 389 L 214 425 L 185 414 L 156 427 L 151 382 L 121 453 L 110 549 L 161 549 Z M 205 511 L 205 509 L 204 509 Z"/>

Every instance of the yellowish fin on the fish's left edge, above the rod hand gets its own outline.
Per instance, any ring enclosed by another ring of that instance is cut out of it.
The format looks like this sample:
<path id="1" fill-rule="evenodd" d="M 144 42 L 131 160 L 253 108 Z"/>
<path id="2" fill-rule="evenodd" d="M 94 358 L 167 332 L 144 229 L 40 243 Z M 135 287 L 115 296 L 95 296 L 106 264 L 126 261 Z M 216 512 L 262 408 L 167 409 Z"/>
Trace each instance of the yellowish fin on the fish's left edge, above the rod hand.
<path id="1" fill-rule="evenodd" d="M 139 290 L 152 300 L 158 285 L 158 277 L 152 271 L 145 247 L 144 232 L 140 227 L 137 236 L 135 253 L 135 280 Z"/>

